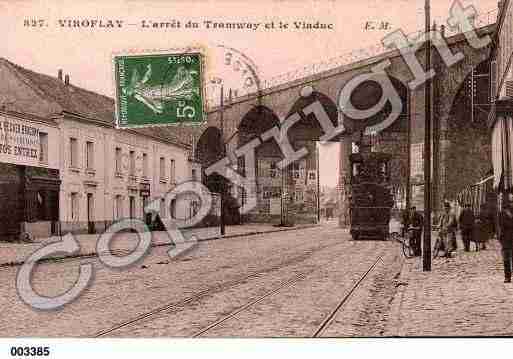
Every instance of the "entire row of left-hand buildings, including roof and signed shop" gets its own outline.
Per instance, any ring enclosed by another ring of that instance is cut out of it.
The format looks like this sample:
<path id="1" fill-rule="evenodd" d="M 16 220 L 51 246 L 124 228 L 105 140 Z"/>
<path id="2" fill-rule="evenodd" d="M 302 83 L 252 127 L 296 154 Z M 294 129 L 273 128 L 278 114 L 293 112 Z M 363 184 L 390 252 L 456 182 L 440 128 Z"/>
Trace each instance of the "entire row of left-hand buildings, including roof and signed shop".
<path id="1" fill-rule="evenodd" d="M 0 59 L 0 238 L 101 233 L 123 218 L 187 219 L 166 194 L 201 174 L 172 130 L 114 128 L 113 99 Z"/>

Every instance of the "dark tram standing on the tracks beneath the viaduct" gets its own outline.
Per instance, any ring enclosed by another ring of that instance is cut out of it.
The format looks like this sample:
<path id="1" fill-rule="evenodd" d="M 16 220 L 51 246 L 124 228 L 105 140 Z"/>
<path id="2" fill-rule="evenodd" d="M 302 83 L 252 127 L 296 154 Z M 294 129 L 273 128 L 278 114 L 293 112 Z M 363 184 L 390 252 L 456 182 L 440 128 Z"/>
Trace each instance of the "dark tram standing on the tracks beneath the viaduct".
<path id="1" fill-rule="evenodd" d="M 354 240 L 386 240 L 393 207 L 390 160 L 382 152 L 363 151 L 349 157 L 351 173 L 350 233 Z"/>

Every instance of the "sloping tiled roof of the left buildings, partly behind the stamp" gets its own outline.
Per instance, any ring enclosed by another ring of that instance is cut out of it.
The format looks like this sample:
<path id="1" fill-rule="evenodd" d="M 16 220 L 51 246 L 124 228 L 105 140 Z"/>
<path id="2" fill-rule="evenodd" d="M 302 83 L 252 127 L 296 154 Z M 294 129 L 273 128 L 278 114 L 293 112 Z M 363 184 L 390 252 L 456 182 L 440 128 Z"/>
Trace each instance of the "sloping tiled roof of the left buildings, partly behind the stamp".
<path id="1" fill-rule="evenodd" d="M 108 96 L 92 92 L 73 84 L 66 85 L 57 77 L 28 70 L 0 57 L 0 64 L 14 71 L 23 82 L 41 97 L 56 105 L 60 113 L 70 114 L 84 120 L 99 122 L 109 127 L 115 126 L 115 102 Z M 150 136 L 180 147 L 190 147 L 187 129 L 174 128 L 137 128 L 130 131 Z M 192 133 L 192 132 L 191 132 Z"/>

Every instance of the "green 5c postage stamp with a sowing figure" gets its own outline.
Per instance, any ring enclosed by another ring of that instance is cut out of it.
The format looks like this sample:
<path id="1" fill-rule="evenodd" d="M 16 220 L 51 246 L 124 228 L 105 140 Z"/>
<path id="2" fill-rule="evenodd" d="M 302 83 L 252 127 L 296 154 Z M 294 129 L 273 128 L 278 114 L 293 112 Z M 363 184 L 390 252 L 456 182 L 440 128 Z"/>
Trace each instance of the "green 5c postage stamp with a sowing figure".
<path id="1" fill-rule="evenodd" d="M 116 126 L 205 121 L 201 53 L 115 55 Z"/>

